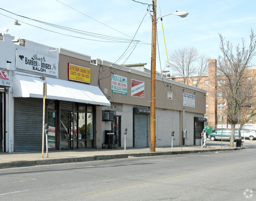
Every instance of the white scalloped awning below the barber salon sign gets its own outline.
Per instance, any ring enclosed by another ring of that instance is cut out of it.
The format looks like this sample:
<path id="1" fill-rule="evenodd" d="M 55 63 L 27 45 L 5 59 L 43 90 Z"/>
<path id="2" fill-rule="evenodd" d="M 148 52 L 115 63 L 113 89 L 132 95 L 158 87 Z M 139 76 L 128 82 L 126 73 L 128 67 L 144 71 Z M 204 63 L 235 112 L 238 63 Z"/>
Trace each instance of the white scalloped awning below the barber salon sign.
<path id="1" fill-rule="evenodd" d="M 47 99 L 110 106 L 98 86 L 26 73 L 13 74 L 13 97 L 43 98 L 43 82 L 47 83 Z"/>

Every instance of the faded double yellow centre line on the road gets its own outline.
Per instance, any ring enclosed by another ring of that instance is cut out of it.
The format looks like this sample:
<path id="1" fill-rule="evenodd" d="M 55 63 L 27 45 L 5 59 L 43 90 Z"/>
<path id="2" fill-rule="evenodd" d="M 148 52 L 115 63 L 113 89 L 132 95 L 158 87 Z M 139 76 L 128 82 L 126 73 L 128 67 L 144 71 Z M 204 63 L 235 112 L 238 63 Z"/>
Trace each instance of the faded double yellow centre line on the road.
<path id="1" fill-rule="evenodd" d="M 154 178 L 154 179 L 145 180 L 145 181 L 141 181 L 141 182 L 121 185 L 121 186 L 127 186 L 127 187 L 119 188 L 119 189 L 114 189 L 114 190 L 110 190 L 110 191 L 106 191 L 106 192 L 101 192 L 101 193 L 97 193 L 97 194 L 93 194 L 93 195 L 89 195 L 88 197 L 99 196 L 99 195 L 103 195 L 103 194 L 106 194 L 106 193 L 111 193 L 111 192 L 115 192 L 115 191 L 119 191 L 119 190 L 124 190 L 124 189 L 128 189 L 128 188 L 134 188 L 134 187 L 137 187 L 137 186 L 142 186 L 142 185 L 146 185 L 146 184 L 152 184 L 152 183 L 161 182 L 161 181 L 168 180 L 168 179 L 184 177 L 184 176 L 193 175 L 193 174 L 197 174 L 197 173 L 202 173 L 202 172 L 206 172 L 206 171 L 217 170 L 217 169 L 221 169 L 221 168 L 224 168 L 224 167 L 229 167 L 229 166 L 232 166 L 232 165 L 239 165 L 239 164 L 243 164 L 243 163 L 247 163 L 247 162 L 252 162 L 252 161 L 246 161 L 246 162 L 242 162 L 242 163 L 235 163 L 235 164 L 231 164 L 231 165 L 215 167 L 215 168 L 212 168 L 212 169 L 209 169 L 209 170 L 202 170 L 202 171 L 198 171 L 198 172 L 192 172 L 192 173 L 178 175 L 178 176 L 172 176 L 172 177 L 168 177 L 168 178 L 159 177 L 159 178 Z M 157 179 L 157 180 L 155 180 L 155 179 Z M 154 181 L 151 181 L 151 180 L 154 180 Z M 142 184 L 138 184 L 138 183 L 142 183 Z M 133 184 L 137 184 L 137 185 L 133 185 Z M 128 186 L 128 185 L 132 185 L 132 186 Z M 104 191 L 104 190 L 108 190 L 108 189 L 113 189 L 113 188 L 117 188 L 117 187 L 121 187 L 121 186 L 115 186 L 115 187 L 100 189 L 100 190 L 91 191 L 91 192 L 87 192 L 87 193 L 81 193 L 81 194 L 75 195 L 75 196 L 82 196 L 82 195 L 86 195 L 86 194 L 89 194 L 89 193 L 95 193 L 95 192 Z"/>

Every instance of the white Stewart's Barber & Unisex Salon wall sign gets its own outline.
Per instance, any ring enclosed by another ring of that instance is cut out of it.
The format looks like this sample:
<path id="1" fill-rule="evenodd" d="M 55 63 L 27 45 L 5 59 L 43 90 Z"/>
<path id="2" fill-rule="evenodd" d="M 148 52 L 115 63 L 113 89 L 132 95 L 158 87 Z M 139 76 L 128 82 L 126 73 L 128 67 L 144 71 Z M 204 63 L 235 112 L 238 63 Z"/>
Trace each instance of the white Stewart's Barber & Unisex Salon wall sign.
<path id="1" fill-rule="evenodd" d="M 16 49 L 16 68 L 34 73 L 43 73 L 44 75 L 58 76 L 59 61 L 57 58 L 40 55 L 36 52 Z"/>

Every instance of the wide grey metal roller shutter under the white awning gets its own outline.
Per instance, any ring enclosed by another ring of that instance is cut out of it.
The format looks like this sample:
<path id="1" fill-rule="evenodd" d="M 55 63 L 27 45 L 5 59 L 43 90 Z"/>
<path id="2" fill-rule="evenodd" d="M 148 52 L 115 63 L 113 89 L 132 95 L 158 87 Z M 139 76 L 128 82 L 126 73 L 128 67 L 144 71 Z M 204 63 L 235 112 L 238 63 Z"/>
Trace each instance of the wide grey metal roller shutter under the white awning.
<path id="1" fill-rule="evenodd" d="M 43 99 L 14 98 L 14 151 L 42 150 L 42 106 Z"/>

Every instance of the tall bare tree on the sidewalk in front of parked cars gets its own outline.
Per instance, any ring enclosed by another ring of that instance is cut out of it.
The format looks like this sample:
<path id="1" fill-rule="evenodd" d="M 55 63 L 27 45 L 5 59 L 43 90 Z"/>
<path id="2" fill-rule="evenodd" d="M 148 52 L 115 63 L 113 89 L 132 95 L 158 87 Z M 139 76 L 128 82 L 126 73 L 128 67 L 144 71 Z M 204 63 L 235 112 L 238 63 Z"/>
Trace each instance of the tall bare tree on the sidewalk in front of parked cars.
<path id="1" fill-rule="evenodd" d="M 242 107 L 252 102 L 254 91 L 254 77 L 248 74 L 247 69 L 252 67 L 252 59 L 256 54 L 256 36 L 251 30 L 249 49 L 245 48 L 245 40 L 242 38 L 242 45 L 236 46 L 233 52 L 233 45 L 219 34 L 220 50 L 222 56 L 217 59 L 218 71 L 218 92 L 222 93 L 222 98 L 226 100 L 227 117 L 231 124 L 232 132 L 230 147 L 234 146 L 235 124 L 239 122 Z M 248 80 L 248 77 L 252 78 Z"/>

